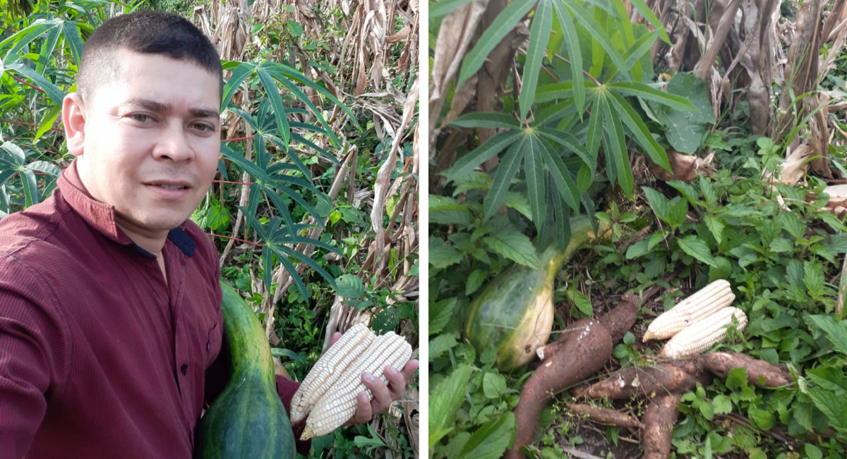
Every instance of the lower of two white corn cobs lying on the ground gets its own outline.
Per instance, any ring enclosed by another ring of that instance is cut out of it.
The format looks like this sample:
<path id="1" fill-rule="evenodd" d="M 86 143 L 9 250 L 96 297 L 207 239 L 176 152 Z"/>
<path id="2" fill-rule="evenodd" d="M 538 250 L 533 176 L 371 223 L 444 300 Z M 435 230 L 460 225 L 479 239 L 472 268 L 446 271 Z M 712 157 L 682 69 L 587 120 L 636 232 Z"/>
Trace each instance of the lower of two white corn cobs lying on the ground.
<path id="1" fill-rule="evenodd" d="M 695 324 L 689 325 L 683 331 L 665 343 L 660 357 L 682 358 L 700 354 L 713 344 L 721 342 L 727 336 L 726 325 L 733 323 L 733 317 L 738 320 L 738 330 L 747 326 L 747 316 L 738 307 L 724 307 Z"/>

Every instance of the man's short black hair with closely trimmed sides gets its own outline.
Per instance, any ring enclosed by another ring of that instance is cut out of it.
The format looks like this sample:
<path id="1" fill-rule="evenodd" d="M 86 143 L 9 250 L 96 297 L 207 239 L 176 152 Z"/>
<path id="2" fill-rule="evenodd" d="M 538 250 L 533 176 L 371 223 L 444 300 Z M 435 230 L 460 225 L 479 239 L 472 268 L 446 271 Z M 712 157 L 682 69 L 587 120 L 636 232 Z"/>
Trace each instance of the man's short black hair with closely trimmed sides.
<path id="1" fill-rule="evenodd" d="M 198 64 L 218 76 L 218 98 L 223 96 L 224 71 L 218 51 L 208 37 L 176 14 L 139 11 L 108 19 L 88 37 L 76 80 L 83 102 L 91 101 L 100 86 L 117 78 L 121 49 L 162 54 Z"/>

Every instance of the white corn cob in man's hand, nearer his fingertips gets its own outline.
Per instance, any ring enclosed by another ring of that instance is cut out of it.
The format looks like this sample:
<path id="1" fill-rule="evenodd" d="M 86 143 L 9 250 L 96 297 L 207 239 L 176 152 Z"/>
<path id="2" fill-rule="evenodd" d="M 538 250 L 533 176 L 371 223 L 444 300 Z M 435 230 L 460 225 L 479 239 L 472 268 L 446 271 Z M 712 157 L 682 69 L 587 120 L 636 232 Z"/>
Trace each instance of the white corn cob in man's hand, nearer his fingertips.
<path id="1" fill-rule="evenodd" d="M 398 370 L 406 366 L 412 357 L 412 346 L 392 332 L 377 336 L 374 344 L 357 359 L 354 365 L 344 370 L 335 385 L 315 405 L 306 419 L 306 428 L 300 440 L 329 434 L 356 414 L 357 395 L 366 391 L 368 398 L 374 395 L 362 383 L 362 373 L 368 372 L 387 384 L 383 369 L 390 365 Z"/>

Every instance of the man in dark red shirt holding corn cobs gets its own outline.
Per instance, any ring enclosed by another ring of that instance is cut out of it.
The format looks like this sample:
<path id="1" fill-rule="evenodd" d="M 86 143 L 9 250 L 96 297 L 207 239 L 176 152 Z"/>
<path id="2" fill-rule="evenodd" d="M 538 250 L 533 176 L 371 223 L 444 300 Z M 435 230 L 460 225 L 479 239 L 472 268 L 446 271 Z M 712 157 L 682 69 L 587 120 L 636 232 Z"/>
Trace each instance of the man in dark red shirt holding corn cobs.
<path id="1" fill-rule="evenodd" d="M 119 16 L 86 42 L 77 88 L 75 160 L 0 221 L 0 459 L 187 459 L 226 383 L 218 254 L 188 219 L 219 158 L 219 56 L 178 16 Z M 374 401 L 359 394 L 349 423 L 417 367 L 363 374 Z M 296 385 L 277 377 L 286 408 Z"/>

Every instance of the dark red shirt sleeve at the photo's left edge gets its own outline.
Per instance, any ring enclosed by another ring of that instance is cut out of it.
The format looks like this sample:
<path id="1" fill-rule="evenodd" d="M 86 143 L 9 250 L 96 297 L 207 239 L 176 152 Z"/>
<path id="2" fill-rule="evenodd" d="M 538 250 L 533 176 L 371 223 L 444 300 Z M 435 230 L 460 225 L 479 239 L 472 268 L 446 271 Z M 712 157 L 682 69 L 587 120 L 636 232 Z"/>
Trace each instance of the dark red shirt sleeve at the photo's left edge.
<path id="1" fill-rule="evenodd" d="M 69 330 L 41 277 L 11 257 L 0 273 L 0 459 L 20 459 L 65 386 Z"/>

